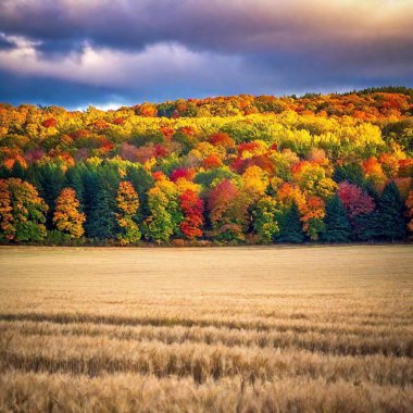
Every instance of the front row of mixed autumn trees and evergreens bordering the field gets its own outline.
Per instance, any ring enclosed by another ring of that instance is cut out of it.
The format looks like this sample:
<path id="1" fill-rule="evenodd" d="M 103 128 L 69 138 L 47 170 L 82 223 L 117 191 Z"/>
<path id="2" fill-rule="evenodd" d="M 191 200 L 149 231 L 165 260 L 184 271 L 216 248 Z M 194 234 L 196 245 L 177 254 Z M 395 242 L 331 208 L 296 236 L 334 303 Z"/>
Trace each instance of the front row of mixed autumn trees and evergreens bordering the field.
<path id="1" fill-rule="evenodd" d="M 129 161 L 93 161 L 66 171 L 36 164 L 3 176 L 1 241 L 395 241 L 413 229 L 413 191 L 403 201 L 389 180 L 378 193 L 356 164 L 340 165 L 335 179 L 315 188 L 311 180 L 302 189 L 271 182 L 259 166 L 241 175 L 227 168 L 198 174 L 177 168 L 168 177 Z"/>

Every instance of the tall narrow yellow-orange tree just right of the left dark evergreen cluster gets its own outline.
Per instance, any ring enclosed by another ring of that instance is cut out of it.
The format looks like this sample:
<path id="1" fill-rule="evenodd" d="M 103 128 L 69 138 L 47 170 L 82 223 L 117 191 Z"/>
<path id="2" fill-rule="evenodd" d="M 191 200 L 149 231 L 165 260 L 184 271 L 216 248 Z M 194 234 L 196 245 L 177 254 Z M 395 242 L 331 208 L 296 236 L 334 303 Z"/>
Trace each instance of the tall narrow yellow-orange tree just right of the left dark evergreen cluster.
<path id="1" fill-rule="evenodd" d="M 118 212 L 115 215 L 117 225 L 121 228 L 121 231 L 117 234 L 117 239 L 125 246 L 138 242 L 141 237 L 139 226 L 136 222 L 139 198 L 134 186 L 127 180 L 120 183 L 116 195 L 116 205 Z"/>

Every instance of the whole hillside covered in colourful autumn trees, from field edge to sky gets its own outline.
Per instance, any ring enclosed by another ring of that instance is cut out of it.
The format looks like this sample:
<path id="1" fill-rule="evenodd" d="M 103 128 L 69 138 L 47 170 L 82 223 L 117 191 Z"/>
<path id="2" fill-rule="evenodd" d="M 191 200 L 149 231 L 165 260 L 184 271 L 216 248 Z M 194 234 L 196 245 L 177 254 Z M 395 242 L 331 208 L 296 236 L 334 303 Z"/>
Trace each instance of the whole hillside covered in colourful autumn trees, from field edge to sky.
<path id="1" fill-rule="evenodd" d="M 406 240 L 413 90 L 0 104 L 0 241 Z"/>

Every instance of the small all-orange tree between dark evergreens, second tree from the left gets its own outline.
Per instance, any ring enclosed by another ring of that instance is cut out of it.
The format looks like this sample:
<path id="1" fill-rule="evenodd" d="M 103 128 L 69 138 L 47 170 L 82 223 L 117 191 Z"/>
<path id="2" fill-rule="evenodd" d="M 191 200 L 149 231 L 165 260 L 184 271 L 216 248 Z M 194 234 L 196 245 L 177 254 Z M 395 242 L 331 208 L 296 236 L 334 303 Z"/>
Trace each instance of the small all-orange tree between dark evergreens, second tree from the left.
<path id="1" fill-rule="evenodd" d="M 84 213 L 79 212 L 79 201 L 73 188 L 63 188 L 55 201 L 53 223 L 62 233 L 71 238 L 80 238 L 85 234 L 83 224 L 86 221 Z"/>

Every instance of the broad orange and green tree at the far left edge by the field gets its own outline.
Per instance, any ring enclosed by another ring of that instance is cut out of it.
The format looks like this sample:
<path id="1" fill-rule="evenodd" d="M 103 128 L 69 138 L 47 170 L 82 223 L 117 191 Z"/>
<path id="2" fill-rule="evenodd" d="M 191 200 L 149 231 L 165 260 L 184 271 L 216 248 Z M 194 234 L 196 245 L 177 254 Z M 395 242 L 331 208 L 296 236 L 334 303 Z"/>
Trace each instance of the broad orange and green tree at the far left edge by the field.
<path id="1" fill-rule="evenodd" d="M 33 185 L 18 178 L 0 179 L 0 239 L 35 241 L 46 237 L 48 205 Z"/>

